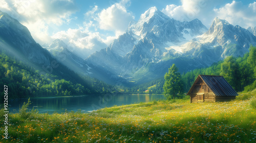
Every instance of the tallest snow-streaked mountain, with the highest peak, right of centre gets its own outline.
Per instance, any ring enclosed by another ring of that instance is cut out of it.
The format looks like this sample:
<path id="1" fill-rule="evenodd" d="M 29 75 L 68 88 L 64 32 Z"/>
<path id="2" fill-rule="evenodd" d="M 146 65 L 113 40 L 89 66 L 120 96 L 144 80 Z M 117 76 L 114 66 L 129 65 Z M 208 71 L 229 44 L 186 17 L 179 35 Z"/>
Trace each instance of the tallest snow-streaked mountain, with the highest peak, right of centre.
<path id="1" fill-rule="evenodd" d="M 158 65 L 181 56 L 180 51 L 174 50 L 178 45 L 206 31 L 207 28 L 198 19 L 181 22 L 152 7 L 141 14 L 137 22 L 131 22 L 126 33 L 105 49 L 90 55 L 87 61 L 129 81 L 148 78 L 157 72 L 158 74 L 153 77 L 155 78 L 166 72 L 169 67 L 169 64 L 164 67 Z M 156 71 L 151 72 L 153 70 Z M 147 75 L 149 73 L 151 74 Z"/>

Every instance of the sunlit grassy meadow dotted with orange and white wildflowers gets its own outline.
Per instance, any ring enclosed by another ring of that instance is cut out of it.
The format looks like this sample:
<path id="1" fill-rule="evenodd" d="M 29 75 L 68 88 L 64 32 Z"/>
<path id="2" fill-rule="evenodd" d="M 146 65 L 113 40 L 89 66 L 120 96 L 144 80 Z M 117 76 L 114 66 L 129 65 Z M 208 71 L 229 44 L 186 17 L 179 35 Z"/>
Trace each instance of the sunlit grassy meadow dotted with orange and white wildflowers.
<path id="1" fill-rule="evenodd" d="M 157 101 L 91 113 L 9 114 L 2 142 L 255 142 L 256 90 L 235 101 Z M 3 111 L 1 130 L 4 133 Z"/>

